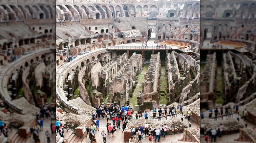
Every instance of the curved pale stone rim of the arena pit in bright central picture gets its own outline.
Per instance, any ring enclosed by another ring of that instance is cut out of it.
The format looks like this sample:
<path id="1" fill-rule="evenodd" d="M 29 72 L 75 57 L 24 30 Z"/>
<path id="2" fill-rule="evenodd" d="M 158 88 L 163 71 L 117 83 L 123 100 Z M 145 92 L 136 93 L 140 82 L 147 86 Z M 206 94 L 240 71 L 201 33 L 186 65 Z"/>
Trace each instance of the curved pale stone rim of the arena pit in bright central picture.
<path id="1" fill-rule="evenodd" d="M 77 58 L 75 58 L 74 60 L 66 63 L 64 66 L 62 66 L 60 68 L 60 70 L 56 73 L 56 95 L 58 97 L 58 99 L 61 101 L 61 103 L 63 103 L 67 108 L 69 108 L 70 110 L 74 111 L 75 113 L 79 114 L 79 108 L 77 108 L 76 106 L 68 103 L 68 98 L 64 95 L 64 90 L 62 88 L 62 84 L 63 84 L 63 79 L 62 76 L 68 71 L 68 68 L 79 62 L 84 56 L 90 56 L 91 54 L 100 52 L 100 51 L 105 51 L 105 48 L 101 48 L 101 49 L 97 49 L 97 50 L 93 50 L 90 51 L 86 54 L 80 55 Z M 60 80 L 60 82 L 59 82 Z M 64 95 L 64 96 L 63 96 Z"/>

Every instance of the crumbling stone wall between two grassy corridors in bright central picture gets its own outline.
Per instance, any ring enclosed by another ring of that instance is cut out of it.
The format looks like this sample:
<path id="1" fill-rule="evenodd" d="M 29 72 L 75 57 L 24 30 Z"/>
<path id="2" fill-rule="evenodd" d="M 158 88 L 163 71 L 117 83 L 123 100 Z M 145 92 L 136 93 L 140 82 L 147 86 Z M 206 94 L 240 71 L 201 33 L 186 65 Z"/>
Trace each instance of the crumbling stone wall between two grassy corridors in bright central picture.
<path id="1" fill-rule="evenodd" d="M 137 96 L 137 102 L 140 109 L 143 109 L 142 103 L 145 101 L 156 101 L 159 103 L 161 59 L 160 53 L 151 55 L 148 71 L 145 73 L 145 80 L 141 83 L 141 91 Z M 140 94 L 141 92 L 141 94 Z"/>

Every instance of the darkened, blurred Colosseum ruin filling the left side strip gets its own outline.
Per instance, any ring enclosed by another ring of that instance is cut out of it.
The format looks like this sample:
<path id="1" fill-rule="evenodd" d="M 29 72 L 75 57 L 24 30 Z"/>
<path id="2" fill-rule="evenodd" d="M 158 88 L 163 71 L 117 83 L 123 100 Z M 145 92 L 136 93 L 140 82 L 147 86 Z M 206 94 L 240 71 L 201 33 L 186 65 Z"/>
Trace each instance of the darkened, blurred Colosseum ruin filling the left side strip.
<path id="1" fill-rule="evenodd" d="M 55 112 L 54 11 L 53 0 L 1 1 L 0 120 L 9 132 L 8 138 L 1 133 L 0 142 L 33 142 L 29 135 L 36 112 L 48 105 Z M 41 133 L 39 138 L 47 142 Z"/>

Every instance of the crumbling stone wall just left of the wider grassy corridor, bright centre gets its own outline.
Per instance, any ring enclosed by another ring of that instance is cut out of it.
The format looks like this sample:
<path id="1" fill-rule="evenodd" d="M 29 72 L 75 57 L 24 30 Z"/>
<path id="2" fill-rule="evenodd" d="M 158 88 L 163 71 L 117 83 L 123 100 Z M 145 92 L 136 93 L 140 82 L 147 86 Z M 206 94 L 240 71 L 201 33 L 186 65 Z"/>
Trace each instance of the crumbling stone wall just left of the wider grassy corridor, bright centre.
<path id="1" fill-rule="evenodd" d="M 133 61 L 140 62 L 134 63 Z M 136 80 L 134 66 L 137 68 L 142 66 L 142 56 L 136 53 L 130 57 L 127 63 L 123 65 L 110 81 L 109 101 L 111 103 L 125 104 L 128 101 Z"/>

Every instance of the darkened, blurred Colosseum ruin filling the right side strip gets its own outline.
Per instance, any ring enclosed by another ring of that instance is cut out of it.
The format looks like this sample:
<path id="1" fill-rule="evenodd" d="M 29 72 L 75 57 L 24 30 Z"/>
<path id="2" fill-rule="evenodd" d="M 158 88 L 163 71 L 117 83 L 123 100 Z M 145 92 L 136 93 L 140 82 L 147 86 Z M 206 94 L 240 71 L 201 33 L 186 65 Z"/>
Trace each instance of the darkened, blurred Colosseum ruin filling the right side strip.
<path id="1" fill-rule="evenodd" d="M 222 123 L 224 136 L 217 141 L 255 142 L 256 135 L 252 130 L 256 127 L 255 1 L 202 1 L 200 10 L 200 109 L 204 113 L 201 129 L 203 126 L 218 128 Z M 247 110 L 247 120 L 237 120 L 237 113 L 233 111 L 236 104 L 241 116 Z M 228 106 L 231 114 L 234 113 L 230 118 L 227 116 Z M 223 118 L 212 113 L 213 118 L 209 119 L 210 108 L 213 111 L 218 108 Z M 204 138 L 201 141 L 204 142 Z"/>

